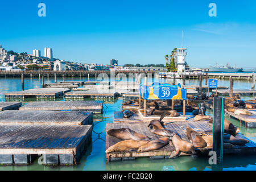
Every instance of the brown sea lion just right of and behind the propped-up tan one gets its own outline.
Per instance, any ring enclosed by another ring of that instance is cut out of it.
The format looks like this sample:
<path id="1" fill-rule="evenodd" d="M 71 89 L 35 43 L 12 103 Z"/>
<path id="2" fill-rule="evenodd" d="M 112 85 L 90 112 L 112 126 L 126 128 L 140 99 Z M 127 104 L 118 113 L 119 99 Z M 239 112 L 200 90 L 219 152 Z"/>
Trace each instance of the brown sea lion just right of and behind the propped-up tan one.
<path id="1" fill-rule="evenodd" d="M 186 127 L 187 138 L 189 142 L 193 144 L 195 148 L 204 148 L 207 146 L 207 142 L 194 130 L 189 127 Z"/>

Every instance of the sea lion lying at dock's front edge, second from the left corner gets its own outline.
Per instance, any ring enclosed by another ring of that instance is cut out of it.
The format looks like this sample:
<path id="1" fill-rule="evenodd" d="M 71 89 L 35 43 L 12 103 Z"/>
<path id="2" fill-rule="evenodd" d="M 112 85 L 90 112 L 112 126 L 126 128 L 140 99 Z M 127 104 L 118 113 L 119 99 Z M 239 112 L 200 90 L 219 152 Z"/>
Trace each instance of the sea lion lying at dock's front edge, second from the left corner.
<path id="1" fill-rule="evenodd" d="M 138 152 L 148 152 L 152 150 L 158 150 L 159 148 L 166 146 L 169 142 L 170 142 L 170 139 L 167 137 L 151 140 L 147 144 L 139 147 Z"/>

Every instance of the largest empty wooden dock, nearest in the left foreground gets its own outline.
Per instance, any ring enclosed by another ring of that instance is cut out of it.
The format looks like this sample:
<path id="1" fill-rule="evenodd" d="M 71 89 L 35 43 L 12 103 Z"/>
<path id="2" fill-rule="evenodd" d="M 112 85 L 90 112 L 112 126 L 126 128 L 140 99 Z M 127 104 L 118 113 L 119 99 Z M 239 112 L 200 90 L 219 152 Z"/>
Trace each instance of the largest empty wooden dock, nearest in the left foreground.
<path id="1" fill-rule="evenodd" d="M 92 141 L 92 126 L 0 125 L 0 164 L 76 164 Z"/>

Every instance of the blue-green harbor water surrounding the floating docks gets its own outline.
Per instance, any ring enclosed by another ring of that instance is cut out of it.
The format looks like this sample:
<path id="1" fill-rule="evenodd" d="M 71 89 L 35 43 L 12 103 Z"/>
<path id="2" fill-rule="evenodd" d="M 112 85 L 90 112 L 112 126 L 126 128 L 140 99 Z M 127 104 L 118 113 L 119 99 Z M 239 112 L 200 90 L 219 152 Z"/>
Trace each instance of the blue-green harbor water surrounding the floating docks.
<path id="1" fill-rule="evenodd" d="M 94 81 L 95 78 L 90 78 L 90 81 Z M 58 81 L 63 81 L 59 78 Z M 88 81 L 88 78 L 66 78 L 65 81 Z M 152 81 L 152 80 L 151 80 Z M 154 81 L 154 80 L 153 80 Z M 165 82 L 169 80 L 160 80 Z M 171 80 L 170 80 L 171 81 Z M 177 79 L 177 81 L 179 81 Z M 45 84 L 53 83 L 54 78 L 44 78 Z M 150 81 L 148 81 L 150 82 Z M 180 80 L 181 82 L 181 80 Z M 203 81 L 204 83 L 204 81 Z M 39 78 L 24 78 L 24 89 L 41 88 L 42 80 Z M 186 80 L 186 85 L 199 85 L 199 80 Z M 218 85 L 229 86 L 228 80 L 219 80 Z M 234 81 L 234 89 L 250 89 L 250 81 Z M 5 101 L 5 93 L 20 91 L 21 80 L 20 78 L 0 78 L 0 101 Z M 252 99 L 253 97 L 242 97 L 245 99 Z M 63 98 L 59 99 L 64 101 Z M 31 100 L 25 100 L 23 105 Z M 48 167 L 38 164 L 38 160 L 35 160 L 33 164 L 28 166 L 0 166 L 0 170 L 256 170 L 256 155 L 224 155 L 224 162 L 219 165 L 210 165 L 208 158 L 192 158 L 191 156 L 181 156 L 176 159 L 149 159 L 140 158 L 130 161 L 119 161 L 106 163 L 105 158 L 105 139 L 106 133 L 104 131 L 106 123 L 113 122 L 113 113 L 120 109 L 122 100 L 114 100 L 105 102 L 104 108 L 106 112 L 102 114 L 101 121 L 94 122 L 92 133 L 92 144 L 88 147 L 86 154 L 82 156 L 80 164 L 77 166 L 57 166 Z M 208 113 L 210 114 L 210 113 Z M 18 116 L 17 116 L 18 117 Z M 97 118 L 94 117 L 94 118 Z M 236 119 L 228 118 L 232 123 L 240 127 L 240 122 Z M 101 133 L 104 131 L 103 133 Z M 101 133 L 101 134 L 98 134 Z M 244 126 L 241 127 L 241 133 L 245 137 L 256 142 L 256 129 L 248 129 Z"/>

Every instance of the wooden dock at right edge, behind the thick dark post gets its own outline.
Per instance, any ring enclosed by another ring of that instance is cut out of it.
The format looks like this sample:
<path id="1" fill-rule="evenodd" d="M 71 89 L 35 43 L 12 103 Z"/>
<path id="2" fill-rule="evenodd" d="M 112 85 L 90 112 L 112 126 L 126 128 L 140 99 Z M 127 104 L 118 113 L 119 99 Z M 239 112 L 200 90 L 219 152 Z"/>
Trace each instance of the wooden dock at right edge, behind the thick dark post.
<path id="1" fill-rule="evenodd" d="M 240 125 L 244 123 L 245 127 L 256 127 L 256 109 L 248 110 L 248 111 L 250 111 L 252 115 L 242 115 L 242 114 L 237 115 L 229 111 L 226 111 L 226 113 L 228 113 L 230 117 L 240 120 Z"/>

